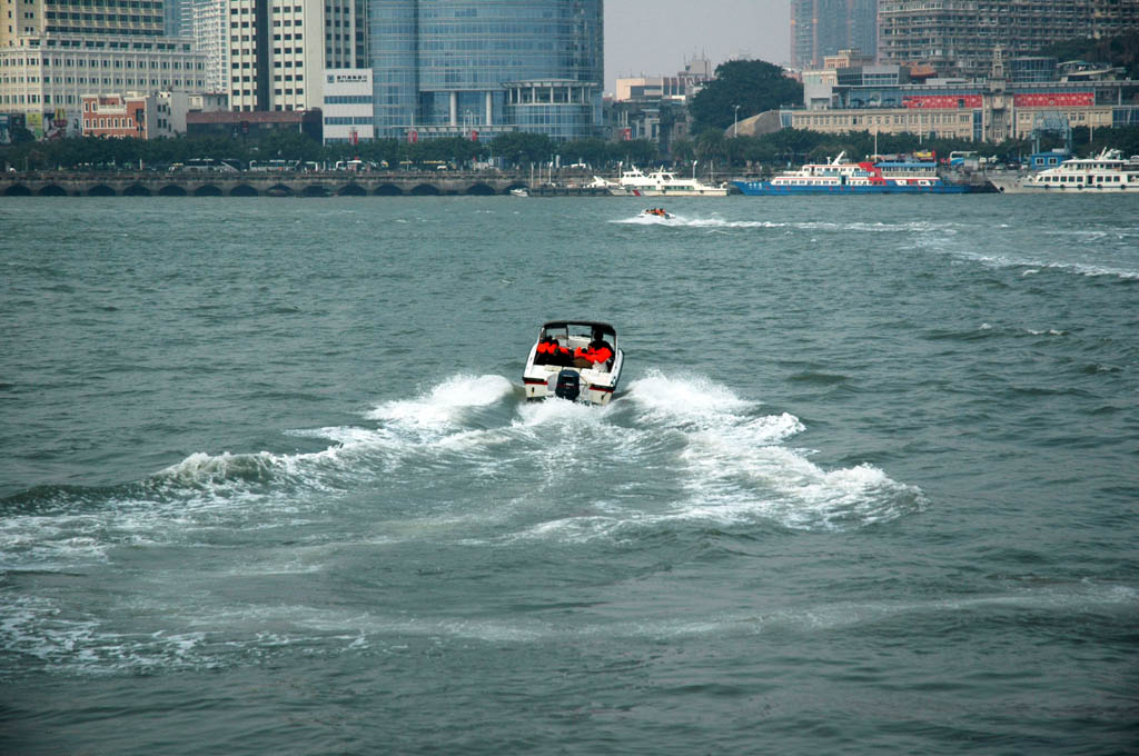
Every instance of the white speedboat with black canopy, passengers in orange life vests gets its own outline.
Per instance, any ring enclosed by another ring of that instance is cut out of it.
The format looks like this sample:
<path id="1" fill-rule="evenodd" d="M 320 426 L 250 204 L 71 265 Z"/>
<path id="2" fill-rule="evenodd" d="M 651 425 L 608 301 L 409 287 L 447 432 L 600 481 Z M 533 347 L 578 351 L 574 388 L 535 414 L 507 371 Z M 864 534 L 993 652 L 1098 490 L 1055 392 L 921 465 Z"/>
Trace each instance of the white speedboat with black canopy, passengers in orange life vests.
<path id="1" fill-rule="evenodd" d="M 551 320 L 530 348 L 522 383 L 527 400 L 557 397 L 604 405 L 617 389 L 623 363 L 617 331 L 609 323 Z"/>

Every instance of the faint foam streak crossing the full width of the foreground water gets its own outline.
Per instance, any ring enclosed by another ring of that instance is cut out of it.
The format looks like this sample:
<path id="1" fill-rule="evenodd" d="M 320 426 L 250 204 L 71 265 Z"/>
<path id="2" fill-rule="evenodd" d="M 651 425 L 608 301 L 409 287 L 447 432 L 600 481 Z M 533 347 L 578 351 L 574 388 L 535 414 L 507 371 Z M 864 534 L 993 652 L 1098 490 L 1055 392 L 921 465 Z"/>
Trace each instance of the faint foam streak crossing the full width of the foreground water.
<path id="1" fill-rule="evenodd" d="M 185 597 L 179 597 L 185 599 Z M 136 607 L 138 608 L 138 607 Z M 667 607 L 613 621 L 591 613 L 559 613 L 509 618 L 391 615 L 304 605 L 174 606 L 151 601 L 130 630 L 109 615 L 74 615 L 41 597 L 15 597 L 0 613 L 0 647 L 11 656 L 38 660 L 44 669 L 68 675 L 104 675 L 151 669 L 210 669 L 276 654 L 339 655 L 382 650 L 405 652 L 413 643 L 548 643 L 573 639 L 644 640 L 707 635 L 833 632 L 884 622 L 962 614 L 1008 618 L 1041 613 L 1072 617 L 1081 613 L 1131 618 L 1139 608 L 1134 587 L 1095 582 L 1057 583 L 982 595 L 933 595 L 923 600 L 831 601 L 741 607 L 693 618 Z M 177 610 L 174 610 L 177 609 Z M 130 613 L 128 613 L 130 614 Z M 174 622 L 171 622 L 171 621 Z M 11 658 L 11 656 L 9 658 Z M 0 671 L 2 672 L 2 671 Z"/>

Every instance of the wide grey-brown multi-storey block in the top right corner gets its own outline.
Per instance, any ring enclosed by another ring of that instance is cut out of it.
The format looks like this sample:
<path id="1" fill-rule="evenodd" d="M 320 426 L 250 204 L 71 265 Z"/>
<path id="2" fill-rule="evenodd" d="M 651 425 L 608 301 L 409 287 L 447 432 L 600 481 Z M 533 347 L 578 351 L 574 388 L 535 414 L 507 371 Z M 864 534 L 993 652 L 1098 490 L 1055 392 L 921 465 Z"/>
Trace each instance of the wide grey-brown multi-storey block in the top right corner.
<path id="1" fill-rule="evenodd" d="M 879 0 L 878 23 L 880 61 L 983 76 L 998 47 L 1016 55 L 1063 40 L 1134 32 L 1139 0 Z"/>

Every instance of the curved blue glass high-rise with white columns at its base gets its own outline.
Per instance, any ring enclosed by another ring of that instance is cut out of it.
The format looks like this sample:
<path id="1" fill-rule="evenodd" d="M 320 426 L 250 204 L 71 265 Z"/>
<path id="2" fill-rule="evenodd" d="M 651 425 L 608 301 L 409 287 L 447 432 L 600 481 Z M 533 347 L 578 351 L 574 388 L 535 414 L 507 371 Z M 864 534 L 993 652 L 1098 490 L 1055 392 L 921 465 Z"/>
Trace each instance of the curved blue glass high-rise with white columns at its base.
<path id="1" fill-rule="evenodd" d="M 604 0 L 370 0 L 376 135 L 601 126 Z"/>

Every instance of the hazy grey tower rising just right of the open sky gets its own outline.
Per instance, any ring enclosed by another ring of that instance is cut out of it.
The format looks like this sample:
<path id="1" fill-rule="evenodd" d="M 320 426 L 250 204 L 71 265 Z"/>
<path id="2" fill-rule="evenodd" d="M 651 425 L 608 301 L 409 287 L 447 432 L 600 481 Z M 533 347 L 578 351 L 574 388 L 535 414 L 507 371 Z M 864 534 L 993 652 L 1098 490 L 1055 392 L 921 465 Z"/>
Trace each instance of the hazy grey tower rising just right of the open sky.
<path id="1" fill-rule="evenodd" d="M 874 57 L 878 0 L 792 0 L 790 63 L 818 68 L 828 55 L 858 49 Z"/>

